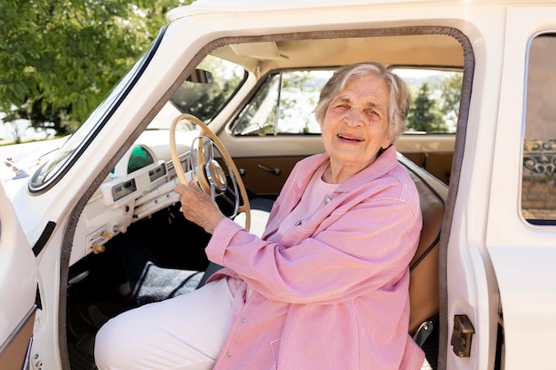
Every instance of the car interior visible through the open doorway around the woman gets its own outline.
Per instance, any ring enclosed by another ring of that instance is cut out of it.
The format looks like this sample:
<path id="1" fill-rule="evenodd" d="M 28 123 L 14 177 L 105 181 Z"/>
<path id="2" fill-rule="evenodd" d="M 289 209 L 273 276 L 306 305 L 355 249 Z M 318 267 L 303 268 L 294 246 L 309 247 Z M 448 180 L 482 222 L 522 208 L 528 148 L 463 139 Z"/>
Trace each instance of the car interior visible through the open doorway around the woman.
<path id="1" fill-rule="evenodd" d="M 60 287 L 60 348 L 70 368 L 96 368 L 94 335 L 108 319 L 187 294 L 218 268 L 203 251 L 210 235 L 179 212 L 173 193 L 177 163 L 187 176 L 203 177 L 195 168 L 212 160 L 226 177 L 222 193 L 232 194 L 215 200 L 226 216 L 244 223 L 246 212 L 236 216 L 234 208 L 239 183 L 245 190 L 239 192 L 240 207 L 249 203 L 250 231 L 260 234 L 295 163 L 322 152 L 312 114 L 322 84 L 338 67 L 370 60 L 399 71 L 413 97 L 425 94 L 439 106 L 447 104 L 442 79 L 456 76 L 459 83 L 451 111 L 438 109 L 441 130 L 416 123 L 395 143 L 401 165 L 417 185 L 424 218 L 409 265 L 409 335 L 436 368 L 441 231 L 457 191 L 473 79 L 465 36 L 454 28 L 419 26 L 229 37 L 206 45 L 195 60 L 201 62 L 184 66 L 187 73 L 171 98 L 156 108 L 155 118 L 107 176 L 99 175 L 102 184 L 91 189 L 83 209 L 75 210 L 75 232 L 68 236 L 71 248 L 62 264 L 68 281 Z M 177 122 L 181 114 L 206 124 L 218 143 L 199 142 L 207 131 L 195 122 Z"/>

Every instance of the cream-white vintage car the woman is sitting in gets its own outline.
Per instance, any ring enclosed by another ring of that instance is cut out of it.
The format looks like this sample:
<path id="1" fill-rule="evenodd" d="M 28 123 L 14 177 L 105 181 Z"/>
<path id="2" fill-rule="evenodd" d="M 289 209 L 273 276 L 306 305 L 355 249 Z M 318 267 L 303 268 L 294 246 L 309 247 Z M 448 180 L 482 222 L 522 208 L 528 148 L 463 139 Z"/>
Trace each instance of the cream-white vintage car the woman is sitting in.
<path id="1" fill-rule="evenodd" d="M 318 83 L 364 60 L 461 75 L 456 133 L 396 143 L 428 189 L 424 211 L 440 209 L 418 267 L 434 295 L 412 295 L 424 297 L 413 311 L 433 306 L 433 367 L 552 367 L 556 3 L 199 0 L 169 20 L 58 151 L 12 158 L 29 176 L 4 177 L 0 191 L 0 293 L 10 297 L 0 367 L 93 368 L 107 318 L 196 287 L 207 235 L 174 204 L 167 128 L 177 115 L 198 116 L 231 154 L 256 231 L 258 204 L 322 152 L 310 114 Z M 187 170 L 200 130 L 183 126 Z"/>

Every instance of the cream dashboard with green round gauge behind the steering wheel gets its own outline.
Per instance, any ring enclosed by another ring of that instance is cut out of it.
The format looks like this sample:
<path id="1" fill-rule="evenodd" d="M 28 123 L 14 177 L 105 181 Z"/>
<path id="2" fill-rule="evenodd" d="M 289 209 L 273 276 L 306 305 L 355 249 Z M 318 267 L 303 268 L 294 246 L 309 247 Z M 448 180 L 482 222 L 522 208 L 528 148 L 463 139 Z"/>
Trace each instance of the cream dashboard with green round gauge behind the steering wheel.
<path id="1" fill-rule="evenodd" d="M 190 143 L 198 132 L 181 132 L 179 143 Z M 69 264 L 90 253 L 101 253 L 115 235 L 134 222 L 179 201 L 168 145 L 168 130 L 145 131 L 117 162 L 79 217 Z M 184 171 L 189 146 L 177 145 Z"/>

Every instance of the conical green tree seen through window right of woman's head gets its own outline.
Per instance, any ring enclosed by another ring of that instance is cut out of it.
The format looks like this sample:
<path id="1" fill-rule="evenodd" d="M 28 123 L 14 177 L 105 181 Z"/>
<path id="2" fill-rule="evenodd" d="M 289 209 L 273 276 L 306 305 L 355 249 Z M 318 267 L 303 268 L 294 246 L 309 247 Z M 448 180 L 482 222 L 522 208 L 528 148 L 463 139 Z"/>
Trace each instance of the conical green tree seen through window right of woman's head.
<path id="1" fill-rule="evenodd" d="M 408 130 L 423 132 L 448 132 L 435 100 L 431 98 L 428 83 L 422 83 L 413 99 L 408 114 Z"/>

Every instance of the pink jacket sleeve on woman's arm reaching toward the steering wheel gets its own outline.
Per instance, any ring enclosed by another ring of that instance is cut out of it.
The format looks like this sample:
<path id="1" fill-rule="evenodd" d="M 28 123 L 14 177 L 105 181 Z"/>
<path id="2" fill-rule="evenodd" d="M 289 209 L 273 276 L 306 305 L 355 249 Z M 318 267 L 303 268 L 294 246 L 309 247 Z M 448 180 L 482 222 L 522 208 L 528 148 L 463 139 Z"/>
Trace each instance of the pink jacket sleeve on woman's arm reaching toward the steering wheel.
<path id="1" fill-rule="evenodd" d="M 206 248 L 210 260 L 233 270 L 259 294 L 286 303 L 338 303 L 394 288 L 417 248 L 420 214 L 404 201 L 369 199 L 336 209 L 326 227 L 299 232 L 286 248 L 224 219 Z M 319 231 L 320 230 L 320 231 Z M 306 235 L 304 235 L 306 233 Z"/>

